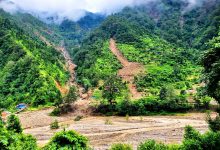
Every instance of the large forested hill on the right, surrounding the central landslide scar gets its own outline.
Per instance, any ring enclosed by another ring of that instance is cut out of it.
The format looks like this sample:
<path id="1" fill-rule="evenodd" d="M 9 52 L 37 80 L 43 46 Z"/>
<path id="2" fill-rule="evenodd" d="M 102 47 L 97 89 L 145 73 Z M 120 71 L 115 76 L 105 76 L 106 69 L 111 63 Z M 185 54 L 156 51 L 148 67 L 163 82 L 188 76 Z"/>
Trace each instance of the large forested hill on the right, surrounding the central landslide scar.
<path id="1" fill-rule="evenodd" d="M 192 89 L 200 82 L 197 60 L 218 34 L 219 2 L 207 0 L 188 9 L 184 1 L 161 0 L 107 17 L 75 49 L 78 82 L 96 87 L 117 74 L 122 66 L 109 51 L 109 39 L 114 38 L 129 61 L 145 65 L 146 72 L 135 79 L 139 91 L 157 96 L 167 85 L 177 91 Z"/>

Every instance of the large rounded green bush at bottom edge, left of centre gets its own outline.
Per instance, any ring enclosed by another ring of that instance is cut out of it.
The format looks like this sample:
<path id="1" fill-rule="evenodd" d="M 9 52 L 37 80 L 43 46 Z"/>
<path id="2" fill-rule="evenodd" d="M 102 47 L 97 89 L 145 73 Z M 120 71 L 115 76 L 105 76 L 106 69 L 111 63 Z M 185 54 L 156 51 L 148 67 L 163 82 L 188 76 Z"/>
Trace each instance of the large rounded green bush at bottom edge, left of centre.
<path id="1" fill-rule="evenodd" d="M 86 137 L 75 131 L 61 131 L 52 137 L 51 141 L 43 150 L 88 150 L 88 140 Z"/>

